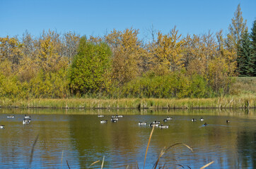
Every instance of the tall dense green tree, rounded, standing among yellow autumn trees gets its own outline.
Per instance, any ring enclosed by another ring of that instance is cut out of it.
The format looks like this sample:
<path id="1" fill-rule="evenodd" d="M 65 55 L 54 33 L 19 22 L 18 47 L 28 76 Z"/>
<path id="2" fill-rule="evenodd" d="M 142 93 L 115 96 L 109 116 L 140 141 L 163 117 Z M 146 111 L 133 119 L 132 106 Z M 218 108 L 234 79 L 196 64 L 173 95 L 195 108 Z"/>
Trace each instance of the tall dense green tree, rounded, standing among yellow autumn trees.
<path id="1" fill-rule="evenodd" d="M 112 53 L 105 43 L 93 44 L 81 37 L 78 54 L 69 70 L 69 86 L 73 94 L 105 92 L 110 85 Z"/>

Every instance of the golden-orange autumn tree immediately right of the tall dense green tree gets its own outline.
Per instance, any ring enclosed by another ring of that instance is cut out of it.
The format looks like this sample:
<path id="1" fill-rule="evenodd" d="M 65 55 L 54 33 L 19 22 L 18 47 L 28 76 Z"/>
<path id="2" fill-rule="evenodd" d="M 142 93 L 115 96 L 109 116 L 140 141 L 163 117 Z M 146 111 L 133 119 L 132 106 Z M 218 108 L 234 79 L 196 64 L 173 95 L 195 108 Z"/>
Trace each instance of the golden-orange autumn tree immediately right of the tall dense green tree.
<path id="1" fill-rule="evenodd" d="M 140 74 L 141 57 L 145 50 L 137 35 L 139 30 L 126 29 L 123 32 L 113 30 L 105 36 L 112 49 L 113 78 L 120 84 L 129 82 Z"/>

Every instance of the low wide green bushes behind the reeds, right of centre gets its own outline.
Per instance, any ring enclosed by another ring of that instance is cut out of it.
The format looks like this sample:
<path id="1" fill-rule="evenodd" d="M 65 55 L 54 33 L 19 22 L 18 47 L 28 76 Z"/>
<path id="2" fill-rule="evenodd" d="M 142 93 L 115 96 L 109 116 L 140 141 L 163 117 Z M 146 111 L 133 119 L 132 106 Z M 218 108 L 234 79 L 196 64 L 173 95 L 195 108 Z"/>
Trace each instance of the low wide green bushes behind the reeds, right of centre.
<path id="1" fill-rule="evenodd" d="M 138 77 L 121 89 L 122 97 L 140 98 L 201 98 L 209 95 L 206 80 L 200 75 L 189 77 L 185 72 L 156 76 L 146 74 Z"/>

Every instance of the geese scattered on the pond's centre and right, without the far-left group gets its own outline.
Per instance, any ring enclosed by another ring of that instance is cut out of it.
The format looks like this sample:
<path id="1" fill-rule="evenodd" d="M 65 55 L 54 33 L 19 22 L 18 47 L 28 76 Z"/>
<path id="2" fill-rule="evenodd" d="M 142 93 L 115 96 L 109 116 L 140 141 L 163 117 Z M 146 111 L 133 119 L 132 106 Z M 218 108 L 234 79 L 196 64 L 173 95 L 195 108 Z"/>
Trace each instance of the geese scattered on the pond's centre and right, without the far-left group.
<path id="1" fill-rule="evenodd" d="M 104 118 L 105 116 L 104 115 L 98 115 L 98 118 Z M 122 118 L 123 115 L 111 115 L 111 122 L 112 123 L 117 123 L 117 121 L 119 120 L 119 118 Z M 165 119 L 163 119 L 163 122 L 168 122 L 169 120 L 173 120 L 173 118 L 170 118 L 169 116 Z M 192 122 L 195 122 L 197 121 L 196 118 L 192 118 Z M 200 118 L 200 121 L 204 121 L 204 118 Z M 229 123 L 230 121 L 229 120 L 226 120 L 226 123 Z M 107 123 L 107 120 L 100 120 L 100 123 Z M 139 125 L 147 125 L 146 122 L 141 122 L 139 121 L 138 123 Z M 169 125 L 163 125 L 161 124 L 161 121 L 153 121 L 152 123 L 149 124 L 150 127 L 159 127 L 159 128 L 168 128 Z M 204 126 L 208 125 L 207 123 L 204 123 Z"/>

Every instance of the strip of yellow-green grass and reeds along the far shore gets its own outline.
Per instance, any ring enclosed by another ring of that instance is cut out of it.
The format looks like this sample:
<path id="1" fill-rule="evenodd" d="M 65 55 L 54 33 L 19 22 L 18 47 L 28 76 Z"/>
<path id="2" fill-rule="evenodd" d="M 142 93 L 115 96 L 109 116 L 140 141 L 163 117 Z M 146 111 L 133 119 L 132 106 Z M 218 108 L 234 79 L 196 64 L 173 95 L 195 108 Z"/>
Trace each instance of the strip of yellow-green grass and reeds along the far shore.
<path id="1" fill-rule="evenodd" d="M 256 77 L 238 77 L 231 96 L 208 99 L 0 99 L 21 108 L 255 108 Z"/>

